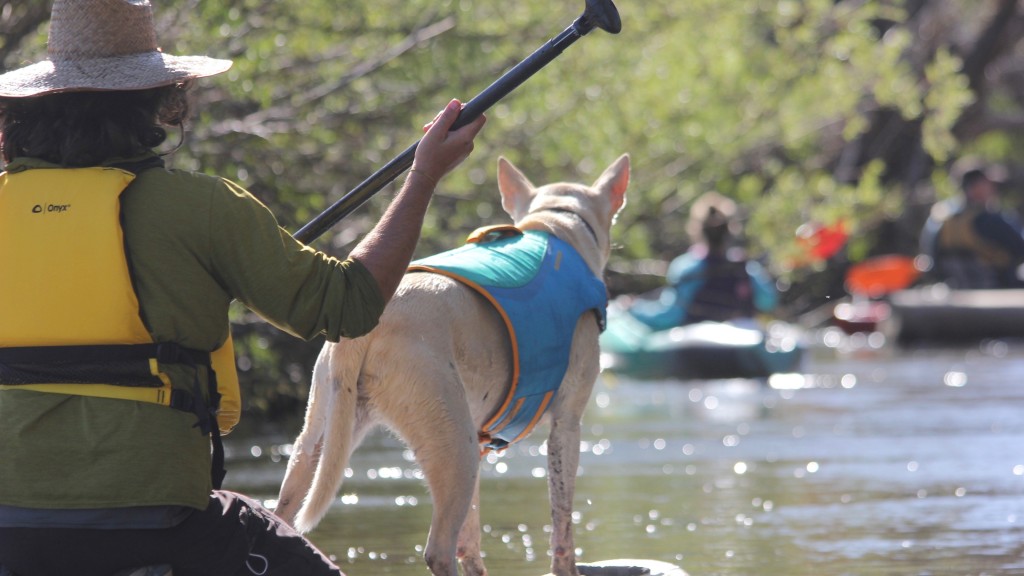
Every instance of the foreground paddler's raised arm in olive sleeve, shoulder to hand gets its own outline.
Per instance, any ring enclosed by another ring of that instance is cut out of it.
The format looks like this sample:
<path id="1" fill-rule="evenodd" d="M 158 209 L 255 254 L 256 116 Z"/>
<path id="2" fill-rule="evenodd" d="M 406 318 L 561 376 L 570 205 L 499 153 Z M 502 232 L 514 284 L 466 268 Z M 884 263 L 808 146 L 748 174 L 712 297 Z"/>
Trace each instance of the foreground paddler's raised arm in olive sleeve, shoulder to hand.
<path id="1" fill-rule="evenodd" d="M 196 210 L 209 216 L 208 269 L 227 295 L 290 334 L 331 341 L 366 334 L 409 266 L 436 180 L 469 155 L 484 122 L 449 133 L 460 108 L 453 100 L 427 125 L 401 191 L 345 261 L 295 240 L 256 198 L 217 179 L 228 194 L 211 194 L 209 209 Z"/>

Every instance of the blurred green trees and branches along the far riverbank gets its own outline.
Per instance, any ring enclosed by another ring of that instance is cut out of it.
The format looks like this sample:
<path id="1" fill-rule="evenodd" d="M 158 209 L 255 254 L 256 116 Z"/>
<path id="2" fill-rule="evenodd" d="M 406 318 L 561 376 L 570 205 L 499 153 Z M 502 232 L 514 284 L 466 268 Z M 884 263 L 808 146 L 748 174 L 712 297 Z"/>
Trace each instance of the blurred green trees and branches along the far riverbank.
<path id="1" fill-rule="evenodd" d="M 161 44 L 229 57 L 200 82 L 176 168 L 234 179 L 292 231 L 567 27 L 584 2 L 155 0 Z M 536 183 L 592 181 L 633 158 L 614 230 L 612 291 L 652 287 L 686 248 L 691 201 L 744 209 L 751 252 L 796 319 L 842 295 L 843 265 L 913 254 L 963 155 L 1001 162 L 1024 205 L 1019 0 L 617 0 L 623 32 L 591 33 L 488 112 L 476 152 L 442 183 L 420 253 L 508 221 L 508 157 Z M 0 69 L 45 52 L 48 0 L 0 0 Z M 172 136 L 173 139 L 173 136 Z M 344 256 L 389 188 L 315 244 Z M 801 227 L 803 227 L 801 229 Z M 797 231 L 843 227 L 818 258 Z M 298 414 L 318 342 L 237 311 L 250 410 Z"/>

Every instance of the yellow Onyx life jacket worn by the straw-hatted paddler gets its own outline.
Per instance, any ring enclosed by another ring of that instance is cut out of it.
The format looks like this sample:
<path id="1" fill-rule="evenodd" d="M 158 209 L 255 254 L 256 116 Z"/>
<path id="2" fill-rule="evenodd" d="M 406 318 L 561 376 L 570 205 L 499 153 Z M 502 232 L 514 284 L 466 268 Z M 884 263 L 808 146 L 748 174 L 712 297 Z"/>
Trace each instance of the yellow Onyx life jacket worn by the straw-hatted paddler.
<path id="1" fill-rule="evenodd" d="M 161 364 L 212 369 L 217 427 L 238 423 L 230 330 L 213 353 L 155 342 L 139 316 L 121 228 L 117 168 L 0 173 L 0 390 L 32 389 L 199 411 Z M 201 421 L 205 414 L 200 414 Z"/>

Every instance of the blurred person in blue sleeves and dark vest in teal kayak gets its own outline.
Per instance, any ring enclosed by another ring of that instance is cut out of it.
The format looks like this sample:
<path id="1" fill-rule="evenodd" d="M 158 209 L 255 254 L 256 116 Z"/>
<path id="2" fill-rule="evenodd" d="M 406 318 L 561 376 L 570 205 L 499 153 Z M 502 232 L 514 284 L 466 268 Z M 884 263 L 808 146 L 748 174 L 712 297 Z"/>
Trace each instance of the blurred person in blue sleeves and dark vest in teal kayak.
<path id="1" fill-rule="evenodd" d="M 656 301 L 637 300 L 630 313 L 654 329 L 703 321 L 752 321 L 778 303 L 778 293 L 760 262 L 736 245 L 741 234 L 732 200 L 710 192 L 690 208 L 690 248 L 672 260 L 667 289 Z"/>

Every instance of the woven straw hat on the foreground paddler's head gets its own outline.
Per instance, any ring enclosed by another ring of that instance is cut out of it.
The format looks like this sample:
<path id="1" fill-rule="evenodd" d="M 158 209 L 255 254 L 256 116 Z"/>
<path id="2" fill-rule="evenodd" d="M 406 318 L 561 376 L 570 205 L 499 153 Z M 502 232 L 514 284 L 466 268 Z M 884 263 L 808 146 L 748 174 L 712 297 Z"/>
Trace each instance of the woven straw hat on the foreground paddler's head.
<path id="1" fill-rule="evenodd" d="M 161 52 L 150 0 L 55 0 L 47 52 L 43 61 L 0 75 L 0 96 L 143 90 L 231 67 Z"/>

